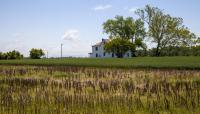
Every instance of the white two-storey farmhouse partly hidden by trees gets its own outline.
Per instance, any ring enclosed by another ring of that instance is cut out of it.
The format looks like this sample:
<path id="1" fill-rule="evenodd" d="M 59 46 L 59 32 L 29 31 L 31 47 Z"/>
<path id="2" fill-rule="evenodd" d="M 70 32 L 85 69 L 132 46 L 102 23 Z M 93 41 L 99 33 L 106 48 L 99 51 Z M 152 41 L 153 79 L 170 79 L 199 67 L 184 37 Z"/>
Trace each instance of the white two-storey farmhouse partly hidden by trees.
<path id="1" fill-rule="evenodd" d="M 117 56 L 114 53 L 106 53 L 104 51 L 105 43 L 109 42 L 108 39 L 102 39 L 101 42 L 92 46 L 92 53 L 89 53 L 91 58 L 116 58 Z M 131 57 L 131 52 L 128 51 L 124 54 L 124 58 Z"/>

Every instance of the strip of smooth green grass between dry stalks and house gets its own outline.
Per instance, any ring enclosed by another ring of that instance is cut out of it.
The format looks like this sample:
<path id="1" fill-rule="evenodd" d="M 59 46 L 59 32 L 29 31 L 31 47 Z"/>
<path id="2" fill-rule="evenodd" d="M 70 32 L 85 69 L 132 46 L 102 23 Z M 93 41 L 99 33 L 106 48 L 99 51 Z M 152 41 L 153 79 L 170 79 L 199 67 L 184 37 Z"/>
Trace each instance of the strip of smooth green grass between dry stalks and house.
<path id="1" fill-rule="evenodd" d="M 24 59 L 0 60 L 0 65 L 200 69 L 200 57 L 135 57 L 127 59 L 65 58 L 40 60 Z"/>

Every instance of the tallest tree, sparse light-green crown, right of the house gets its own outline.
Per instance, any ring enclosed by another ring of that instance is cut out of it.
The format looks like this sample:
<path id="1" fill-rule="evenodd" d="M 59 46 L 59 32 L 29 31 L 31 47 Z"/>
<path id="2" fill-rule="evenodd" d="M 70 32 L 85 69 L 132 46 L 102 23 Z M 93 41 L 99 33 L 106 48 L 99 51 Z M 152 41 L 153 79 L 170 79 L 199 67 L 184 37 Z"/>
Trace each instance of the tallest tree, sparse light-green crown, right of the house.
<path id="1" fill-rule="evenodd" d="M 136 14 L 148 25 L 148 37 L 156 43 L 156 56 L 167 46 L 193 45 L 196 35 L 183 25 L 182 18 L 172 17 L 150 5 L 138 9 Z"/>

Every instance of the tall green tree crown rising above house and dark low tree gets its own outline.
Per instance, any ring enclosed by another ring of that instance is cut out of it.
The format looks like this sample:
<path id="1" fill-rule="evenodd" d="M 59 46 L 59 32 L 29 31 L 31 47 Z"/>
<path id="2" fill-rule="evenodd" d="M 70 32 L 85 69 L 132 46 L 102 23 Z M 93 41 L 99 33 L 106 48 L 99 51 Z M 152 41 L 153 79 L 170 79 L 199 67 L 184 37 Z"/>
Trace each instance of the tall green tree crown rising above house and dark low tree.
<path id="1" fill-rule="evenodd" d="M 103 29 L 111 40 L 117 38 L 113 42 L 117 42 L 119 39 L 126 40 L 125 42 L 130 42 L 131 40 L 132 44 L 136 47 L 146 47 L 142 42 L 146 33 L 144 22 L 141 19 L 134 20 L 132 17 L 124 18 L 123 16 L 116 16 L 114 19 L 107 20 L 103 24 Z M 108 47 L 112 48 L 111 46 Z M 120 47 L 123 48 L 123 44 Z M 132 54 L 134 55 L 134 52 Z"/>

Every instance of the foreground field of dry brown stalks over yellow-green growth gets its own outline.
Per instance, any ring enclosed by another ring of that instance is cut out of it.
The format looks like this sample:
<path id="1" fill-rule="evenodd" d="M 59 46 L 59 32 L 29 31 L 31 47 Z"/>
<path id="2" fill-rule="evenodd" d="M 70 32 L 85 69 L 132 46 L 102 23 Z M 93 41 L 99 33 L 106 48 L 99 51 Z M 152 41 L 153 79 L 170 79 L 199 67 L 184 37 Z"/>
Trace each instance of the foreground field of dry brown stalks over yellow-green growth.
<path id="1" fill-rule="evenodd" d="M 199 114 L 200 71 L 0 66 L 0 114 Z"/>

